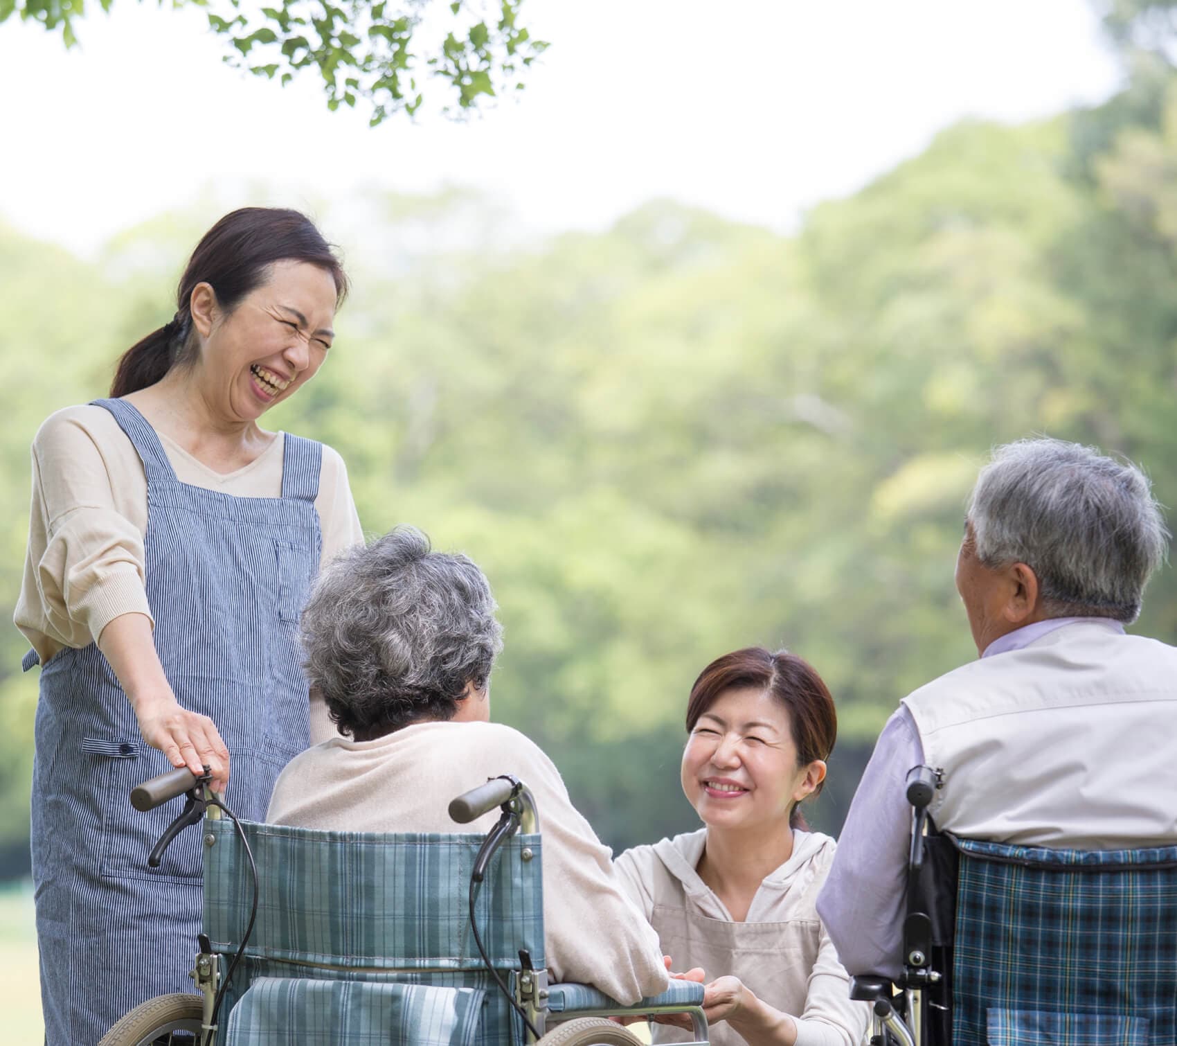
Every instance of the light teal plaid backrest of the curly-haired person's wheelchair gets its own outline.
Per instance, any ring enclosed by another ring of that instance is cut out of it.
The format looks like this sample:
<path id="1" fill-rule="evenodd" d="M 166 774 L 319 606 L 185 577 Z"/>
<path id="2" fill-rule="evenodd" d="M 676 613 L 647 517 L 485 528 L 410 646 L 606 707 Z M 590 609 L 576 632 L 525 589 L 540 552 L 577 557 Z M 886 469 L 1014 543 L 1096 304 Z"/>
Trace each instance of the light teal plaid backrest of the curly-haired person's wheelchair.
<path id="1" fill-rule="evenodd" d="M 481 835 L 241 827 L 258 868 L 258 916 L 227 1007 L 255 978 L 476 988 L 484 992 L 478 1046 L 518 1041 L 470 929 Z M 204 832 L 205 933 L 227 961 L 250 921 L 253 879 L 231 821 L 206 820 Z M 520 948 L 545 965 L 541 846 L 539 835 L 504 843 L 476 905 L 483 946 L 508 981 Z"/>

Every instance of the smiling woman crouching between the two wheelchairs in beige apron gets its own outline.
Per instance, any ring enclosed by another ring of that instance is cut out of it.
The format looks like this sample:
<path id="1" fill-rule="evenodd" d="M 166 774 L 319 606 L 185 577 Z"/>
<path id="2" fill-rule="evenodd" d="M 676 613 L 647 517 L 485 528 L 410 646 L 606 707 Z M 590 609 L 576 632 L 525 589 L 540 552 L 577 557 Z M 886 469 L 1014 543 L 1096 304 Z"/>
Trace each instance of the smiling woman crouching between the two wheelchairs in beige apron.
<path id="1" fill-rule="evenodd" d="M 736 650 L 694 681 L 686 728 L 683 792 L 705 827 L 621 854 L 631 898 L 674 965 L 710 978 L 713 1046 L 855 1046 L 870 1011 L 814 908 L 834 842 L 798 810 L 837 737 L 830 691 L 793 654 Z"/>

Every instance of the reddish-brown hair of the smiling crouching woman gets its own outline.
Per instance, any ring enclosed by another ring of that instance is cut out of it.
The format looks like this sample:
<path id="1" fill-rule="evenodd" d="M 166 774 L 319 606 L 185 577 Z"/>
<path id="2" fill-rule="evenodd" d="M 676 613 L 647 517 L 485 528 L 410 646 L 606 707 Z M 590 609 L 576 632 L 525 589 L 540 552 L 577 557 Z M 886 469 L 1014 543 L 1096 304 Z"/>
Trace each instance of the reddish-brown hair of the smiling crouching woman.
<path id="1" fill-rule="evenodd" d="M 771 694 L 789 711 L 789 730 L 797 747 L 797 764 L 827 760 L 838 740 L 838 713 L 833 697 L 813 667 L 796 654 L 764 647 L 746 647 L 717 657 L 694 681 L 686 702 L 686 729 L 694 724 L 727 690 L 756 689 Z M 824 781 L 822 782 L 825 783 Z M 818 784 L 813 795 L 822 790 Z M 796 803 L 789 816 L 792 828 L 806 828 L 805 817 Z"/>

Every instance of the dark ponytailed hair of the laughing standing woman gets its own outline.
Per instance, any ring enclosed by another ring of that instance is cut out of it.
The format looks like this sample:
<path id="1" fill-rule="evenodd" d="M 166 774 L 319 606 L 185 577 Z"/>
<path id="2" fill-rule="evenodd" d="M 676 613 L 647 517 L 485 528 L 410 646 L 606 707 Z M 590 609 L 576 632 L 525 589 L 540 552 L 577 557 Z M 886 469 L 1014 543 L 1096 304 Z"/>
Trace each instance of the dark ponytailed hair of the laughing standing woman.
<path id="1" fill-rule="evenodd" d="M 111 396 L 126 396 L 154 385 L 177 364 L 197 352 L 189 302 L 197 284 L 208 284 L 227 315 L 259 287 L 275 262 L 307 262 L 331 273 L 335 305 L 347 296 L 347 276 L 331 245 L 305 214 L 280 207 L 241 207 L 204 234 L 188 259 L 175 292 L 175 316 L 137 342 L 119 358 Z"/>

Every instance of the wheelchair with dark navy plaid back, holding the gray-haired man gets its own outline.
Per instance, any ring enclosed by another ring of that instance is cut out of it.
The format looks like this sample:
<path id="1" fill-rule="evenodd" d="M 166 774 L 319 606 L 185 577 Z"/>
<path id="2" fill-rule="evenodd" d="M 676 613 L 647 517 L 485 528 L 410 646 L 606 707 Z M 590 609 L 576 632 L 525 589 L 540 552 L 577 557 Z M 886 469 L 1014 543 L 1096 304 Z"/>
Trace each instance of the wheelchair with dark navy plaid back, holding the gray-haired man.
<path id="1" fill-rule="evenodd" d="M 851 978 L 872 1046 L 1177 1042 L 1177 846 L 1053 849 L 962 839 L 913 767 L 903 973 Z"/>

